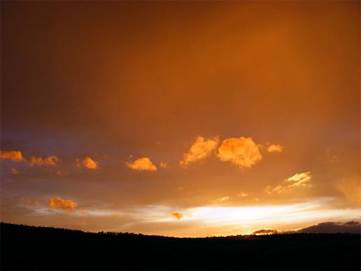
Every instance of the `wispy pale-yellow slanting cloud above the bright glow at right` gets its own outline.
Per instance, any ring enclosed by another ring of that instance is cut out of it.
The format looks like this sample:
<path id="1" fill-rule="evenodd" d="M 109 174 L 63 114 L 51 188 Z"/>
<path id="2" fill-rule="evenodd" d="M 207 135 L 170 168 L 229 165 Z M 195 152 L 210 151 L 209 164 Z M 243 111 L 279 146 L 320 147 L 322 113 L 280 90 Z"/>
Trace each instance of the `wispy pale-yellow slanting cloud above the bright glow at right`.
<path id="1" fill-rule="evenodd" d="M 285 179 L 283 181 L 283 184 L 278 186 L 266 186 L 264 188 L 264 193 L 271 195 L 274 193 L 283 193 L 286 190 L 290 190 L 292 188 L 311 188 L 312 185 L 309 183 L 311 180 L 311 172 L 303 172 L 303 173 L 297 173 L 288 179 Z"/>

